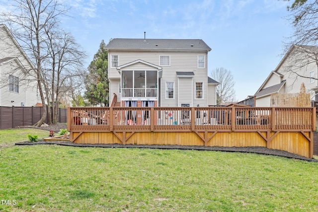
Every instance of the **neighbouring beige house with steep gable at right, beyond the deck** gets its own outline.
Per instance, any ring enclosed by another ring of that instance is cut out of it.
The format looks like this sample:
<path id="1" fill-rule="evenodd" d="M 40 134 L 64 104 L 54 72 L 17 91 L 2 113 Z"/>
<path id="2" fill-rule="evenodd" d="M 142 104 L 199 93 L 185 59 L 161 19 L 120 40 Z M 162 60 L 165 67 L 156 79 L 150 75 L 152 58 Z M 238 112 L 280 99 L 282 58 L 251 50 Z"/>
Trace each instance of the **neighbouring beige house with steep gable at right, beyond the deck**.
<path id="1" fill-rule="evenodd" d="M 275 105 L 271 102 L 274 93 L 299 93 L 302 82 L 314 100 L 318 90 L 318 80 L 314 79 L 317 78 L 317 54 L 317 47 L 293 46 L 256 91 L 256 107 Z"/>

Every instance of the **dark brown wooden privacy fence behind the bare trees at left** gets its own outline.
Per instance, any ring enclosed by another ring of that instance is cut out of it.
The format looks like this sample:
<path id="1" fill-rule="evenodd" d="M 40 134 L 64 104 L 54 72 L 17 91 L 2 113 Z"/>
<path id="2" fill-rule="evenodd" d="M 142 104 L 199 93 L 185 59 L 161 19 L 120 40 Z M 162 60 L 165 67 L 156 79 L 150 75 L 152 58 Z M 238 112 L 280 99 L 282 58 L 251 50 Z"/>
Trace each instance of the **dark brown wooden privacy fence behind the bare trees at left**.
<path id="1" fill-rule="evenodd" d="M 0 107 L 0 130 L 34 125 L 42 115 L 42 107 Z M 47 120 L 48 115 L 45 123 Z M 58 122 L 67 122 L 67 109 L 59 108 Z"/>

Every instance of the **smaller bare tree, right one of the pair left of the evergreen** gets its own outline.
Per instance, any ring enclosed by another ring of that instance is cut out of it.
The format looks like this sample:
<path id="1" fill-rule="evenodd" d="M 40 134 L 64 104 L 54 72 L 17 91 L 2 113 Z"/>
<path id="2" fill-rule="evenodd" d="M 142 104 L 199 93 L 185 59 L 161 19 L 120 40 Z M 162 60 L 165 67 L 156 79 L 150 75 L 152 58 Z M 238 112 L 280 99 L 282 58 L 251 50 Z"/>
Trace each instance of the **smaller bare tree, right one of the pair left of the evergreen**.
<path id="1" fill-rule="evenodd" d="M 46 64 L 46 81 L 51 82 L 50 96 L 53 108 L 53 123 L 58 120 L 58 108 L 62 96 L 63 100 L 67 100 L 70 95 L 69 91 L 76 89 L 77 86 L 71 88 L 73 80 L 86 74 L 82 68 L 82 61 L 86 57 L 79 44 L 75 42 L 74 37 L 70 33 L 63 31 L 47 31 L 49 57 L 44 59 Z M 82 83 L 81 83 L 82 84 Z"/>

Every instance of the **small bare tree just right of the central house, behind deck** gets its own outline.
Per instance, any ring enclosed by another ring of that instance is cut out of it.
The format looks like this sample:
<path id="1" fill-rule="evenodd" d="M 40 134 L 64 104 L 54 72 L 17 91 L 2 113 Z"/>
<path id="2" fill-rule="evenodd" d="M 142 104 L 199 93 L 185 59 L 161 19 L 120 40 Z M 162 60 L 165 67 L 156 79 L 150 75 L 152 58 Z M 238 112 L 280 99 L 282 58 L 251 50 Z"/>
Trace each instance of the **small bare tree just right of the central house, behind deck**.
<path id="1" fill-rule="evenodd" d="M 210 73 L 211 77 L 220 82 L 217 86 L 218 104 L 235 101 L 234 78 L 230 70 L 216 68 Z"/>

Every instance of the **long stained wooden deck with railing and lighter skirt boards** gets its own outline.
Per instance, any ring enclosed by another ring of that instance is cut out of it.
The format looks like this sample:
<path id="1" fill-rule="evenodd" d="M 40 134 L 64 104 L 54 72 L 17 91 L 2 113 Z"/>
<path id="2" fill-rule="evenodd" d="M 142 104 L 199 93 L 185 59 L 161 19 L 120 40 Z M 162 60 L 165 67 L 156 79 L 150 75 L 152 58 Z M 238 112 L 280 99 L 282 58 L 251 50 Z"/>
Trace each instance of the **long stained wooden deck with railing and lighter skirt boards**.
<path id="1" fill-rule="evenodd" d="M 68 108 L 76 143 L 265 146 L 312 158 L 314 130 L 316 108 Z"/>

